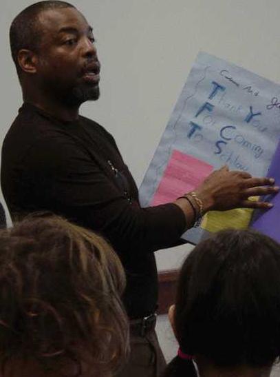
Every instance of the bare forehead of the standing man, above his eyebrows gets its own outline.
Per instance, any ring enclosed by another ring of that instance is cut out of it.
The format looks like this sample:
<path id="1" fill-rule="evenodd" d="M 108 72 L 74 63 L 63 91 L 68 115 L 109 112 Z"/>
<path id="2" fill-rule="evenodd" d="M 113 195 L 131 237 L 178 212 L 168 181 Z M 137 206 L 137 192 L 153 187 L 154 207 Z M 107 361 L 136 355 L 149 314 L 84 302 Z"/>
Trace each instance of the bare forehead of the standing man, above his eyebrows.
<path id="1" fill-rule="evenodd" d="M 55 8 L 39 14 L 43 31 L 59 32 L 63 28 L 89 28 L 87 20 L 76 8 Z"/>

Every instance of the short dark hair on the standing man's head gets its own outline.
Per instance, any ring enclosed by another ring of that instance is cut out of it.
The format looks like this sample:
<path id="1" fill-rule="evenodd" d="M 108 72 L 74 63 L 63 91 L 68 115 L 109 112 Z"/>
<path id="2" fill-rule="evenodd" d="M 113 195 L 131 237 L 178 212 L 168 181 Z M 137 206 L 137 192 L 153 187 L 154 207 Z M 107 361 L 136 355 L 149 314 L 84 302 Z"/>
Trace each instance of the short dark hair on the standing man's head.
<path id="1" fill-rule="evenodd" d="M 21 68 L 17 60 L 19 50 L 26 48 L 37 51 L 41 42 L 42 30 L 39 23 L 39 14 L 44 10 L 57 8 L 75 8 L 65 1 L 39 1 L 20 12 L 10 26 L 10 48 L 12 59 L 20 74 Z"/>

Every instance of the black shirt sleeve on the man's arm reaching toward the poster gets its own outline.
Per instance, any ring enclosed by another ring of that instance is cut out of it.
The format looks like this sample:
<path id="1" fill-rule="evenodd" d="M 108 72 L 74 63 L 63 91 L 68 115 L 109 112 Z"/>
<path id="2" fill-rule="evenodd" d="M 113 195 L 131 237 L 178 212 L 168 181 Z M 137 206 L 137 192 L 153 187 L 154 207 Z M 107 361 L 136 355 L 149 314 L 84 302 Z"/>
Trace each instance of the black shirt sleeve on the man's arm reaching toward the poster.
<path id="1" fill-rule="evenodd" d="M 85 150 L 69 139 L 47 138 L 30 147 L 23 181 L 30 200 L 91 230 L 100 232 L 118 250 L 170 247 L 186 226 L 173 203 L 140 207 L 127 198 Z"/>

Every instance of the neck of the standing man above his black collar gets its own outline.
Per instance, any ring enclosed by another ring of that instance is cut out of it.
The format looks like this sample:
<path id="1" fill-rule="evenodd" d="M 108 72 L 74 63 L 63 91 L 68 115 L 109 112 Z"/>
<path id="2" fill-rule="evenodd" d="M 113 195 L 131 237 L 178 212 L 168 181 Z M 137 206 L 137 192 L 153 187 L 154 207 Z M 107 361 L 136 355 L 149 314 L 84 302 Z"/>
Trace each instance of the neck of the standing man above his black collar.
<path id="1" fill-rule="evenodd" d="M 27 94 L 23 94 L 23 101 L 31 103 L 61 121 L 76 121 L 78 119 L 79 105 L 67 106 L 54 99 L 41 98 L 41 96 L 34 98 L 34 96 L 28 96 Z"/>

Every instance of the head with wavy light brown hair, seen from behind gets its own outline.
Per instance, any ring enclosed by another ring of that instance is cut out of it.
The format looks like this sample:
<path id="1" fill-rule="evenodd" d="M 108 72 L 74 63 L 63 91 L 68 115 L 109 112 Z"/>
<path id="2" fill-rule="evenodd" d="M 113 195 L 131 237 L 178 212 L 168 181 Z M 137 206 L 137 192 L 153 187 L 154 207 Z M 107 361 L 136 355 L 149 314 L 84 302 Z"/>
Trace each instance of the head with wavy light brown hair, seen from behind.
<path id="1" fill-rule="evenodd" d="M 63 218 L 0 231 L 0 376 L 111 376 L 127 355 L 118 256 Z"/>

